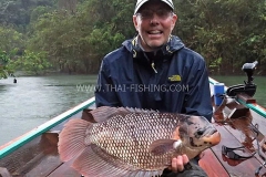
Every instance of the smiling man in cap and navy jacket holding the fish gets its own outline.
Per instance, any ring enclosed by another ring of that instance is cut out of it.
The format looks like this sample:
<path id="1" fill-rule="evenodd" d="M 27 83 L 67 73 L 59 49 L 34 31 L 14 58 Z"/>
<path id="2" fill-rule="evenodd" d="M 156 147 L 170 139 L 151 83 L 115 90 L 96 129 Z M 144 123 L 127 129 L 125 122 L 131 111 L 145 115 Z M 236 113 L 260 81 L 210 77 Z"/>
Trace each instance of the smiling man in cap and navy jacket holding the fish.
<path id="1" fill-rule="evenodd" d="M 137 0 L 133 23 L 139 34 L 103 59 L 95 92 L 98 107 L 149 108 L 211 121 L 205 61 L 171 34 L 177 20 L 173 10 L 172 0 Z M 183 171 L 187 163 L 186 155 L 173 158 L 172 170 Z"/>

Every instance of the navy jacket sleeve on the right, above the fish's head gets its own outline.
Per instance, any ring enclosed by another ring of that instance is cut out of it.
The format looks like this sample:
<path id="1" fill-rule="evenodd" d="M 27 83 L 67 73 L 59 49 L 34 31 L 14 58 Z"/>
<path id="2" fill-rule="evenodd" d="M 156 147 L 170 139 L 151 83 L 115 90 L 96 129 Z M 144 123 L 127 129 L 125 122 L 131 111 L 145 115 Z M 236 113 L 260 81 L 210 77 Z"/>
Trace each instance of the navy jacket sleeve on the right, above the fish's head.
<path id="1" fill-rule="evenodd" d="M 188 76 L 188 92 L 185 96 L 185 113 L 205 116 L 209 122 L 213 116 L 208 73 L 203 58 L 200 58 Z"/>

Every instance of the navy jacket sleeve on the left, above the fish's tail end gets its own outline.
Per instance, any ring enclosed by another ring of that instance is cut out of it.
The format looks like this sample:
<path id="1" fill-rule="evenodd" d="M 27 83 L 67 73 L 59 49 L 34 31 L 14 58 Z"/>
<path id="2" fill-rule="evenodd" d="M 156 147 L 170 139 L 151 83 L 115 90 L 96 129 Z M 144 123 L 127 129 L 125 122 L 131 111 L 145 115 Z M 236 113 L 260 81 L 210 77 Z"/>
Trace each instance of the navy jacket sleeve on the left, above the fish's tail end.
<path id="1" fill-rule="evenodd" d="M 120 102 L 115 93 L 115 86 L 111 80 L 110 67 L 106 59 L 103 59 L 101 63 L 94 95 L 96 107 L 120 106 Z"/>

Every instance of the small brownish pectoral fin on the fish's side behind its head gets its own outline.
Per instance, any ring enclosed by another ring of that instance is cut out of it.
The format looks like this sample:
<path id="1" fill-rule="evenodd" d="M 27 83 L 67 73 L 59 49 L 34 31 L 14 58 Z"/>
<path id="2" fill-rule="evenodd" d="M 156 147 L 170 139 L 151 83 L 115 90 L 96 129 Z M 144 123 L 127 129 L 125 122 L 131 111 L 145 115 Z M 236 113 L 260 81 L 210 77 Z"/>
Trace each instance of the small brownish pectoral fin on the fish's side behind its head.
<path id="1" fill-rule="evenodd" d="M 163 155 L 174 149 L 174 143 L 176 139 L 157 139 L 150 145 L 150 152 L 155 155 Z"/>

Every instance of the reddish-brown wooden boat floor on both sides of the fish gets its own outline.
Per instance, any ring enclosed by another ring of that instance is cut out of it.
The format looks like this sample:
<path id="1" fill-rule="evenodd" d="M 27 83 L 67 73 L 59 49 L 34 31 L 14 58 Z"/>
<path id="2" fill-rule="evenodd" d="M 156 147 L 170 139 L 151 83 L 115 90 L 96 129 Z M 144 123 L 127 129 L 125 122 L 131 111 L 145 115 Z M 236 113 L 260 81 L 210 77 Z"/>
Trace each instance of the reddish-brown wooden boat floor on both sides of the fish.
<path id="1" fill-rule="evenodd" d="M 200 166 L 209 177 L 255 176 L 255 170 L 264 162 L 257 153 L 252 158 L 235 160 L 222 154 L 222 146 L 239 147 L 244 145 L 246 152 L 242 152 L 243 156 L 250 155 L 257 150 L 256 135 L 250 125 L 258 125 L 257 138 L 262 140 L 266 135 L 266 119 L 236 102 L 226 103 L 224 107 L 219 108 L 215 107 L 213 124 L 222 134 L 222 140 L 218 145 L 203 152 L 198 162 Z M 72 117 L 84 118 L 84 111 L 83 116 L 82 113 L 79 113 Z M 3 174 L 3 170 L 8 169 L 12 176 L 27 177 L 80 177 L 81 175 L 71 168 L 72 162 L 62 163 L 58 155 L 58 134 L 63 124 L 61 123 L 50 132 L 34 138 L 10 157 L 0 159 L 0 167 L 4 167 L 0 168 L 0 171 L 2 170 Z M 266 176 L 266 168 L 262 168 L 260 175 Z"/>

